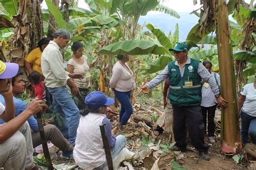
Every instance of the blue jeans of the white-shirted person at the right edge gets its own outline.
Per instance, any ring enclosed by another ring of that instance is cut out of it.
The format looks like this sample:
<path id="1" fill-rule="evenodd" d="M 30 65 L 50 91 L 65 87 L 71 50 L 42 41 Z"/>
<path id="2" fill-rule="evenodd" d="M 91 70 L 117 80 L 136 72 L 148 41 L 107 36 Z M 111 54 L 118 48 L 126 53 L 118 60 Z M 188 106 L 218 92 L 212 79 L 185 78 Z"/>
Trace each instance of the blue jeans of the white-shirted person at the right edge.
<path id="1" fill-rule="evenodd" d="M 242 144 L 248 143 L 248 133 L 252 143 L 256 144 L 256 117 L 250 116 L 241 111 L 241 137 Z"/>

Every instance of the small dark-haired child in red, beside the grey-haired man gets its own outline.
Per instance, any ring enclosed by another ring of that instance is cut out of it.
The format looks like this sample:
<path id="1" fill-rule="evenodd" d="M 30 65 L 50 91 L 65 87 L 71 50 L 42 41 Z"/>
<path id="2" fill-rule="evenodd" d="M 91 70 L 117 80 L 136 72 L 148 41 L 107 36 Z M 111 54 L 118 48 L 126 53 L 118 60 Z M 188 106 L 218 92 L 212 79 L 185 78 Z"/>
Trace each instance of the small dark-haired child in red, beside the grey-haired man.
<path id="1" fill-rule="evenodd" d="M 39 100 L 45 100 L 45 82 L 42 80 L 42 76 L 37 71 L 33 71 L 29 75 L 29 81 L 35 90 L 35 96 Z"/>

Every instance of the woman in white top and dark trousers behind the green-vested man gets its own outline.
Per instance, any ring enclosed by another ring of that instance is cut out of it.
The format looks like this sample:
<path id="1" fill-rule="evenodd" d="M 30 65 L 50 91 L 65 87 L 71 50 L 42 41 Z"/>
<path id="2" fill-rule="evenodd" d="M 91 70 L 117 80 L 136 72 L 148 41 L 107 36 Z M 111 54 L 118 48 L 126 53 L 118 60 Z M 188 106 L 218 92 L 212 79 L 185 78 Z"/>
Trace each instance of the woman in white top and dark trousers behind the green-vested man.
<path id="1" fill-rule="evenodd" d="M 220 86 L 220 76 L 218 73 L 212 72 L 211 61 L 205 60 L 203 62 L 203 65 L 208 70 L 208 72 L 211 73 L 212 76 L 215 78 L 215 81 L 217 82 L 218 86 Z M 216 98 L 215 98 L 209 84 L 204 82 L 203 87 L 202 87 L 201 109 L 202 109 L 202 114 L 203 114 L 203 118 L 204 118 L 205 131 L 206 131 L 206 122 L 207 122 L 206 120 L 208 119 L 207 132 L 208 132 L 208 139 L 210 140 L 211 143 L 215 142 L 215 139 L 214 139 L 214 131 L 215 131 L 214 117 L 215 117 L 216 107 L 217 107 Z"/>

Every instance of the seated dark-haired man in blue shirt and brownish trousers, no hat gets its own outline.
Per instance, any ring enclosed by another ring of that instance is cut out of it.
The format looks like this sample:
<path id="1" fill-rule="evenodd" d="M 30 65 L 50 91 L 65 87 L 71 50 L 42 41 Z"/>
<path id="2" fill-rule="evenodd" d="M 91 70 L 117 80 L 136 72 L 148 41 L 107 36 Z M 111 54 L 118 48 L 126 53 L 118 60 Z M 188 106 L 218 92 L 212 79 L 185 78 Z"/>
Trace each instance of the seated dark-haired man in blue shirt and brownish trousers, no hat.
<path id="1" fill-rule="evenodd" d="M 22 80 L 22 73 L 18 72 L 18 74 L 14 77 L 12 77 L 12 94 L 13 101 L 15 105 L 15 115 L 18 116 L 26 109 L 26 104 L 22 101 L 16 98 L 19 94 L 22 94 L 25 90 L 25 83 Z M 0 95 L 0 102 L 5 104 L 4 97 Z M 37 120 L 35 117 L 30 116 L 28 118 L 29 126 L 32 129 L 32 144 L 33 147 L 36 147 L 38 145 L 42 144 L 42 139 L 39 134 L 39 128 L 37 124 Z M 0 124 L 3 124 L 4 121 L 0 119 Z M 62 156 L 64 158 L 71 158 L 73 153 L 73 146 L 69 144 L 69 141 L 66 140 L 63 137 L 63 134 L 58 130 L 58 128 L 55 125 L 48 124 L 44 126 L 44 133 L 46 140 L 50 140 L 51 143 L 55 146 L 57 146 L 63 153 Z"/>

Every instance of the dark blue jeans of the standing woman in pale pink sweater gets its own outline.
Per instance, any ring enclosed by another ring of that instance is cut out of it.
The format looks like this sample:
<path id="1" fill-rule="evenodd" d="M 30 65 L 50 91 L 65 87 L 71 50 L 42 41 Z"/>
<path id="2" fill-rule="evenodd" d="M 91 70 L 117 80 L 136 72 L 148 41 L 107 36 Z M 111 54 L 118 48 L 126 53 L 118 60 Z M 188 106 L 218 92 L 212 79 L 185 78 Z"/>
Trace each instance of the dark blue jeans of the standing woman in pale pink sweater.
<path id="1" fill-rule="evenodd" d="M 114 90 L 114 95 L 121 103 L 121 110 L 119 111 L 119 121 L 121 122 L 121 125 L 125 125 L 133 112 L 132 104 L 130 102 L 131 91 Z"/>

